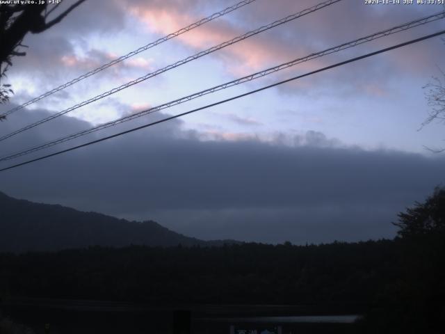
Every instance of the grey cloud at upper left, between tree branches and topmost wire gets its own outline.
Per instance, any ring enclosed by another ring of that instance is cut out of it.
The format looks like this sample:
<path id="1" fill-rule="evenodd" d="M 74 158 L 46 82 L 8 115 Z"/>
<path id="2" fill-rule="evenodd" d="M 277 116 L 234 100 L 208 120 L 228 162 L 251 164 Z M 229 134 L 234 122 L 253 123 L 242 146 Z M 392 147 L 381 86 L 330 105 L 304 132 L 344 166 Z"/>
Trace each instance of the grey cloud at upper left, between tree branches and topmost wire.
<path id="1" fill-rule="evenodd" d="M 49 20 L 72 3 L 74 0 L 64 0 Z M 88 38 L 113 35 L 122 31 L 125 24 L 125 12 L 119 1 L 86 1 L 51 29 L 25 36 L 22 44 L 27 48 L 20 48 L 20 51 L 26 51 L 26 56 L 13 57 L 12 83 L 17 77 L 26 77 L 31 72 L 32 84 L 49 90 L 55 83 L 64 84 L 67 79 L 74 79 L 110 61 L 101 51 L 88 48 Z M 86 59 L 83 63 L 69 65 L 68 60 L 75 57 L 76 47 L 87 50 Z"/>

